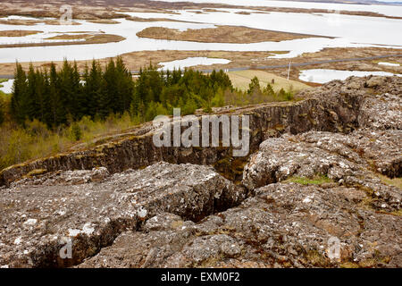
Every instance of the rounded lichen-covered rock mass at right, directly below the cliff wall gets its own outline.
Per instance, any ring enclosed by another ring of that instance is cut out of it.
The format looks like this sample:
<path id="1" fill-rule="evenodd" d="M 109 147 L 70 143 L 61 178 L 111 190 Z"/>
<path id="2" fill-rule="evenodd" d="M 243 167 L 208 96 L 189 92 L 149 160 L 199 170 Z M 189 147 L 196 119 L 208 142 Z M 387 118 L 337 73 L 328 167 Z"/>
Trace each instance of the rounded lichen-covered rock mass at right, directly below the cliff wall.
<path id="1" fill-rule="evenodd" d="M 357 130 L 348 135 L 310 131 L 267 139 L 250 157 L 243 184 L 254 191 L 291 177 L 327 176 L 371 193 L 374 208 L 398 211 L 402 191 L 381 182 L 376 172 L 401 175 L 401 136 L 402 130 Z"/>

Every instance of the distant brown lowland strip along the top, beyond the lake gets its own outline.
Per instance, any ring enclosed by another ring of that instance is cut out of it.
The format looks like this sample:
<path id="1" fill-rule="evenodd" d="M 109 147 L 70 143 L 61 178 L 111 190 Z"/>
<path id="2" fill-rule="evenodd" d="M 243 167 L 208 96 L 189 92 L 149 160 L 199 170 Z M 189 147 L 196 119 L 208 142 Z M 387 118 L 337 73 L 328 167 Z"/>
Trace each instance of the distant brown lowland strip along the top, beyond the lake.
<path id="1" fill-rule="evenodd" d="M 334 1 L 332 1 L 334 2 Z M 339 1 L 342 2 L 342 1 Z M 63 1 L 48 0 L 21 0 L 8 1 L 0 3 L 0 14 L 7 15 L 30 15 L 33 17 L 60 17 L 60 6 L 66 4 Z M 214 13 L 222 12 L 217 9 L 247 9 L 247 12 L 239 12 L 241 14 L 250 14 L 250 10 L 254 13 L 331 13 L 327 9 L 306 9 L 294 7 L 250 7 L 246 5 L 218 4 L 218 3 L 189 3 L 180 2 L 163 2 L 148 0 L 71 0 L 68 1 L 74 13 L 74 19 L 113 19 L 126 17 L 124 12 L 154 12 L 154 13 L 174 13 L 175 10 L 195 10 L 194 13 Z M 364 11 L 339 11 L 340 14 L 383 17 L 390 19 L 402 19 L 402 17 L 388 16 L 381 13 L 364 12 Z"/>

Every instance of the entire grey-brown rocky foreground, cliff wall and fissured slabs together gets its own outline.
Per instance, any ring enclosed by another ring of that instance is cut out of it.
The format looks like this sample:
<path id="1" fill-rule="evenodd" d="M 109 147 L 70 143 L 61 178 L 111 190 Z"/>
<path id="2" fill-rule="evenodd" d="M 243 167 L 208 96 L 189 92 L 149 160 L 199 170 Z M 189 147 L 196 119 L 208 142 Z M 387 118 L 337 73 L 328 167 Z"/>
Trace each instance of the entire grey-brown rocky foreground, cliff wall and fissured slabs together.
<path id="1" fill-rule="evenodd" d="M 401 95 L 398 77 L 349 78 L 218 110 L 250 115 L 243 158 L 156 148 L 146 124 L 10 167 L 0 265 L 400 267 Z"/>

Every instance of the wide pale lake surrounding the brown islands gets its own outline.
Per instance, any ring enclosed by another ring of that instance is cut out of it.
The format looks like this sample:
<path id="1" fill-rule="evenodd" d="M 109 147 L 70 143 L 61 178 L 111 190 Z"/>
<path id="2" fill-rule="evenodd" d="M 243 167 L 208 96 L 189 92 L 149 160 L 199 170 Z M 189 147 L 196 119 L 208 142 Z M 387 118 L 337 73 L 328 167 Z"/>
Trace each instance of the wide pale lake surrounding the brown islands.
<path id="1" fill-rule="evenodd" d="M 205 0 L 203 0 L 205 1 Z M 221 2 L 221 1 L 220 1 Z M 229 1 L 227 1 L 229 2 Z M 239 4 L 239 1 L 235 1 Z M 272 1 L 263 1 L 265 5 L 276 4 Z M 233 3 L 230 1 L 230 3 Z M 236 4 L 234 3 L 234 4 Z M 255 2 L 243 4 L 255 5 Z M 331 6 L 328 4 L 292 3 L 292 6 Z M 348 8 L 358 6 L 360 10 L 370 11 L 387 10 L 396 12 L 399 8 L 389 6 L 377 7 L 375 5 L 348 5 Z M 280 6 L 289 6 L 289 3 L 280 2 Z M 317 6 L 317 7 L 318 7 Z M 380 10 L 379 10 L 380 9 Z M 144 22 L 115 19 L 119 24 L 99 24 L 88 21 L 78 21 L 81 25 L 45 25 L 43 23 L 33 26 L 0 25 L 0 30 L 29 29 L 41 30 L 44 33 L 27 37 L 6 38 L 0 37 L 0 43 L 29 43 L 45 42 L 60 33 L 73 31 L 103 31 L 107 34 L 120 35 L 125 40 L 119 43 L 74 46 L 32 46 L 20 48 L 1 48 L 0 63 L 13 63 L 37 61 L 61 61 L 100 59 L 121 55 L 134 51 L 144 50 L 225 50 L 225 51 L 289 51 L 288 54 L 272 55 L 275 58 L 286 58 L 314 53 L 325 47 L 339 46 L 393 46 L 402 48 L 402 20 L 393 20 L 378 17 L 339 15 L 336 13 L 308 14 L 308 13 L 255 13 L 250 15 L 239 14 L 244 9 L 223 9 L 229 13 L 192 13 L 191 11 L 176 11 L 179 14 L 168 13 L 127 13 L 142 18 L 169 18 L 180 21 L 194 22 Z M 350 9 L 347 9 L 350 10 Z M 399 10 L 398 10 L 399 11 Z M 402 14 L 402 11 L 401 13 Z M 399 15 L 400 15 L 399 14 Z M 281 42 L 262 42 L 252 44 L 222 44 L 197 43 L 188 41 L 157 40 L 152 38 L 138 38 L 136 33 L 148 27 L 165 27 L 172 29 L 205 29 L 216 25 L 247 26 L 255 29 L 271 29 L 287 32 L 304 33 L 334 38 L 302 38 Z M 402 51 L 401 51 L 402 53 Z M 193 59 L 193 63 L 196 64 Z M 199 64 L 198 62 L 197 64 Z"/>

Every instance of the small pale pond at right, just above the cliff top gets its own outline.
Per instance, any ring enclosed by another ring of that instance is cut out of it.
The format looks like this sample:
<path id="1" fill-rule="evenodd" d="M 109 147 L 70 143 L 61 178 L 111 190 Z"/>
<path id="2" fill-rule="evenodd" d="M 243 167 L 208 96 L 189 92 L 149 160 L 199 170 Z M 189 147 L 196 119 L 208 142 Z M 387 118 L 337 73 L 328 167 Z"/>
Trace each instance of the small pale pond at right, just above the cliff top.
<path id="1" fill-rule="evenodd" d="M 300 71 L 299 79 L 307 82 L 326 83 L 331 80 L 346 80 L 350 76 L 365 77 L 368 75 L 392 76 L 394 74 L 385 71 L 338 71 L 314 69 Z"/>

